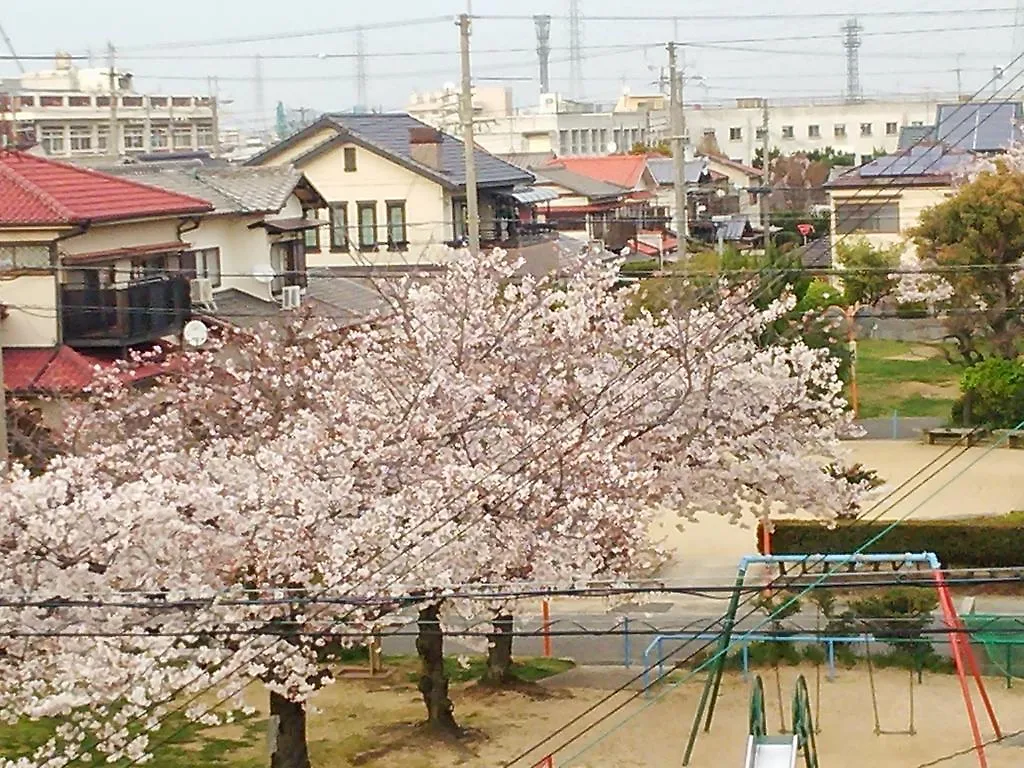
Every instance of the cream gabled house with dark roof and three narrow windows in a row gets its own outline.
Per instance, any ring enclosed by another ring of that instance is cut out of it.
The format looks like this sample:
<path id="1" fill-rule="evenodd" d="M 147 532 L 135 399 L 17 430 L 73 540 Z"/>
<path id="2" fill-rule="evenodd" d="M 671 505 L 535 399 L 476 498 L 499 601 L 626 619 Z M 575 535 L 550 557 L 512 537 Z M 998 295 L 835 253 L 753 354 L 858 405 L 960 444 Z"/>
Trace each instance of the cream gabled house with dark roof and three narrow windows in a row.
<path id="1" fill-rule="evenodd" d="M 311 265 L 436 263 L 464 242 L 463 142 L 403 114 L 329 114 L 250 160 L 293 165 L 327 201 Z M 513 240 L 534 176 L 474 151 L 484 244 Z"/>

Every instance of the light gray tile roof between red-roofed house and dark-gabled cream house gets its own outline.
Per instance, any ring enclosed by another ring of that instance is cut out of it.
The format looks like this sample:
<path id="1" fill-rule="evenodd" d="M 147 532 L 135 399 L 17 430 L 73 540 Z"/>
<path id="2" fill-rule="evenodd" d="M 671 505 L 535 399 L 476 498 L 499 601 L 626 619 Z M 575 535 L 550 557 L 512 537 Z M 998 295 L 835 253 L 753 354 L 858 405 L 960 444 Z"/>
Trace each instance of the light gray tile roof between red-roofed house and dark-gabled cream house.
<path id="1" fill-rule="evenodd" d="M 151 168 L 123 165 L 109 173 L 209 202 L 214 213 L 267 213 L 285 207 L 302 179 L 291 166 L 262 168 Z"/>

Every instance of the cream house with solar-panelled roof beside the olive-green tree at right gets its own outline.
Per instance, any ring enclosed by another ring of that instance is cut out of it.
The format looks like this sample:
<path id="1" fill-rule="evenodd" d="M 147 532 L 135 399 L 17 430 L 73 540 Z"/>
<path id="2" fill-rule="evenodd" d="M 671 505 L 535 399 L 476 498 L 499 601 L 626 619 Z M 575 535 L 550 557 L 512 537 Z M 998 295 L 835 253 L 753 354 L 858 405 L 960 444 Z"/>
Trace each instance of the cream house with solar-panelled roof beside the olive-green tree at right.
<path id="1" fill-rule="evenodd" d="M 850 236 L 877 248 L 905 245 L 922 211 L 952 197 L 956 175 L 974 157 L 944 146 L 914 146 L 829 181 L 833 246 Z"/>

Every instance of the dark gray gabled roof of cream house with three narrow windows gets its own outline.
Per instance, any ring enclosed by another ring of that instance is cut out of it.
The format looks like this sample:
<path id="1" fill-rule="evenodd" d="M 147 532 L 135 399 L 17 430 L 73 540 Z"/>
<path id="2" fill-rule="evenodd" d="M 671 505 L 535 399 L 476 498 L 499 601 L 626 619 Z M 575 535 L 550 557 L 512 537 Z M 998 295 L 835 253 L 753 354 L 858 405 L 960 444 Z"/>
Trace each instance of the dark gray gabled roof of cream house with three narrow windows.
<path id="1" fill-rule="evenodd" d="M 307 160 L 319 156 L 337 143 L 352 141 L 353 143 L 361 144 L 369 150 L 375 151 L 384 157 L 391 158 L 395 162 L 418 173 L 422 173 L 428 178 L 433 178 L 445 186 L 459 188 L 466 185 L 466 160 L 462 140 L 446 133 L 440 133 L 440 169 L 417 162 L 413 160 L 410 151 L 410 130 L 414 128 L 432 129 L 426 123 L 406 114 L 328 114 L 308 128 L 299 131 L 293 136 L 289 136 L 284 141 L 257 155 L 248 161 L 248 164 L 260 165 L 264 160 L 272 158 L 280 150 L 287 148 L 295 141 L 312 135 L 325 126 L 335 128 L 338 131 L 337 135 L 327 138 L 306 154 L 296 158 L 296 165 L 301 166 Z M 514 186 L 515 184 L 530 183 L 534 180 L 532 174 L 528 171 L 506 163 L 501 158 L 479 147 L 474 150 L 474 158 L 476 163 L 476 182 L 481 187 Z"/>

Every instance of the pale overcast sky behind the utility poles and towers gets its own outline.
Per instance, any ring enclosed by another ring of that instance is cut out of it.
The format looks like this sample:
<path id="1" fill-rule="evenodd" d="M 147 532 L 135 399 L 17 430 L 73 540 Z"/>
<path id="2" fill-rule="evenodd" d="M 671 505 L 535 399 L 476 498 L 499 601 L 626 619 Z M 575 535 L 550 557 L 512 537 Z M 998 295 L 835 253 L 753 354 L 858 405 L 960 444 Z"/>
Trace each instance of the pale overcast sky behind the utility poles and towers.
<path id="1" fill-rule="evenodd" d="M 509 78 L 516 104 L 536 101 L 537 55 L 532 22 L 487 18 L 550 13 L 554 88 L 568 90 L 568 0 L 472 0 L 474 74 Z M 841 15 L 859 14 L 864 28 L 860 69 L 866 94 L 955 90 L 962 68 L 965 92 L 984 86 L 994 66 L 1014 56 L 1012 0 L 771 0 L 717 3 L 675 0 L 580 0 L 584 23 L 584 77 L 587 96 L 613 100 L 624 85 L 651 91 L 666 62 L 664 43 L 673 37 L 671 20 L 601 20 L 586 16 L 679 15 L 678 39 L 687 43 L 687 71 L 703 78 L 688 86 L 687 102 L 736 96 L 828 97 L 843 93 L 845 55 Z M 970 7 L 968 7 L 970 6 Z M 356 100 L 355 36 L 309 34 L 366 25 L 364 35 L 371 105 L 401 109 L 414 89 L 435 89 L 459 78 L 458 31 L 454 16 L 464 0 L 47 0 L 4 2 L 0 24 L 23 55 L 49 55 L 57 49 L 91 51 L 103 63 L 106 41 L 118 49 L 119 66 L 133 71 L 145 91 L 207 91 L 208 76 L 218 77 L 228 120 L 252 124 L 260 119 L 254 75 L 262 55 L 264 119 L 272 121 L 278 100 L 317 111 L 345 110 Z M 773 17 L 742 18 L 765 13 Z M 918 15 L 880 15 L 885 11 L 924 11 Z M 938 12 L 936 12 L 938 11 Z M 690 14 L 688 17 L 687 14 Z M 727 18 L 694 19 L 693 15 Z M 449 16 L 431 24 L 410 24 Z M 974 29 L 972 29 L 974 28 Z M 984 28 L 984 29 L 977 29 Z M 926 32 L 922 32 L 926 31 Z M 249 43 L 194 43 L 223 38 L 306 33 L 304 37 Z M 1020 38 L 1018 38 L 1020 39 Z M 167 46 L 171 43 L 188 45 Z M 716 47 L 706 47 L 708 45 Z M 1024 41 L 1021 41 L 1024 46 Z M 705 47 L 701 47 L 705 46 Z M 746 50 L 742 50 L 746 49 Z M 6 51 L 3 51 L 6 53 Z M 341 54 L 346 57 L 318 57 Z M 398 55 L 395 55 L 398 54 Z M 957 54 L 961 54 L 957 57 Z M 48 62 L 28 61 L 43 69 Z M 1008 71 L 1018 75 L 1024 59 Z M 0 61 L 0 75 L 16 74 Z M 1024 74 L 1004 94 L 1021 86 Z"/>

